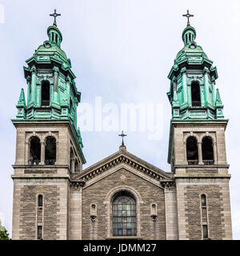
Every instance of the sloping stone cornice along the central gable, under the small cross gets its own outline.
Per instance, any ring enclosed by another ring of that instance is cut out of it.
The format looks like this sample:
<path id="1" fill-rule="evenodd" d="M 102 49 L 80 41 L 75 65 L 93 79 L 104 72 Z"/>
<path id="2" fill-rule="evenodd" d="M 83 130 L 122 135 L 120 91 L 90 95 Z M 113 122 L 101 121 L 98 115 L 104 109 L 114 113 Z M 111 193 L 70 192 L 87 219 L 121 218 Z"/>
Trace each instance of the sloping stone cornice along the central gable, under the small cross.
<path id="1" fill-rule="evenodd" d="M 110 174 L 111 170 L 116 171 L 121 168 L 134 171 L 134 174 L 146 178 L 147 180 L 154 180 L 154 182 L 173 181 L 174 175 L 151 165 L 149 162 L 136 157 L 127 150 L 119 150 L 111 154 L 109 157 L 96 162 L 89 166 L 81 173 L 73 174 L 71 179 L 74 181 L 90 182 L 91 179 L 96 179 L 98 176 L 105 176 Z"/>

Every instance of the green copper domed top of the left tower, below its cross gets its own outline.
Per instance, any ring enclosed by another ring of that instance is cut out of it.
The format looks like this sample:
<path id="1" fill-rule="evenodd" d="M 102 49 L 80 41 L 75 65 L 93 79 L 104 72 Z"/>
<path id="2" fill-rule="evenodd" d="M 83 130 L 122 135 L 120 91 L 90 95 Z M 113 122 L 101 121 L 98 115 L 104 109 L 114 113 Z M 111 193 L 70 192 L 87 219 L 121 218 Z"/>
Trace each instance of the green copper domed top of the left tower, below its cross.
<path id="1" fill-rule="evenodd" d="M 57 26 L 47 29 L 49 40 L 38 46 L 33 56 L 26 60 L 24 75 L 27 81 L 27 101 L 24 90 L 18 100 L 17 118 L 14 122 L 70 122 L 74 136 L 78 142 L 83 162 L 82 137 L 77 128 L 77 106 L 81 101 L 71 70 L 70 59 L 61 49 L 62 33 Z M 46 85 L 48 98 L 42 95 L 42 86 Z M 41 85 L 41 86 L 39 86 Z"/>

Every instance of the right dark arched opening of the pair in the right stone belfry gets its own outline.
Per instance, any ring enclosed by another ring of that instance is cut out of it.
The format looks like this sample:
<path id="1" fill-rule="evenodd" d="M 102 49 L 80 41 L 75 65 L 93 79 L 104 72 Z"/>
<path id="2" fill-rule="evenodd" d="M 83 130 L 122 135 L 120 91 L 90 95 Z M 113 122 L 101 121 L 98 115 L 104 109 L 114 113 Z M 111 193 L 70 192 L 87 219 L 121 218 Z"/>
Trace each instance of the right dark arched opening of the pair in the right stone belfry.
<path id="1" fill-rule="evenodd" d="M 204 162 L 205 165 L 214 164 L 213 141 L 209 136 L 202 138 L 202 162 Z"/>

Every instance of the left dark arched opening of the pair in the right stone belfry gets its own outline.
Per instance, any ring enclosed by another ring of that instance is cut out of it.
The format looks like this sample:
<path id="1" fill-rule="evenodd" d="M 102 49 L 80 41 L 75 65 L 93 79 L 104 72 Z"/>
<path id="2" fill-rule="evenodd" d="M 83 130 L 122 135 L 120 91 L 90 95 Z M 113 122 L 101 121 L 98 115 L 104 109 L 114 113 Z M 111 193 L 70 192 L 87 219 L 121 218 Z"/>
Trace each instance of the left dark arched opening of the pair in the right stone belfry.
<path id="1" fill-rule="evenodd" d="M 198 142 L 194 136 L 186 140 L 186 158 L 189 165 L 198 165 Z"/>

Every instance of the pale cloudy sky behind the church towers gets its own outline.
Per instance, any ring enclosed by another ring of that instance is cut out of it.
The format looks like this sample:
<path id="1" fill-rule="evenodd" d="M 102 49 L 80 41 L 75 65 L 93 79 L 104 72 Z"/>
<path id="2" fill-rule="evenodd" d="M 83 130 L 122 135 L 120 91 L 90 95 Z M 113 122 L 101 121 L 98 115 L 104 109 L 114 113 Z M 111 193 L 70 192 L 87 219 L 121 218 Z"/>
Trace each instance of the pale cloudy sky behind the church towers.
<path id="1" fill-rule="evenodd" d="M 47 39 L 52 24 L 49 14 L 57 9 L 62 49 L 71 59 L 82 102 L 94 106 L 124 102 L 162 104 L 162 138 L 148 140 L 148 133 L 127 131 L 127 150 L 147 162 L 169 171 L 166 162 L 170 103 L 166 97 L 166 78 L 174 58 L 182 49 L 182 30 L 189 9 L 196 42 L 218 68 L 219 88 L 224 114 L 230 118 L 226 129 L 227 158 L 230 163 L 230 198 L 234 239 L 240 239 L 239 137 L 239 42 L 240 2 L 159 1 L 159 0 L 78 0 L 41 2 L 0 0 L 0 218 L 11 232 L 13 182 L 10 174 L 15 158 L 15 129 L 10 118 L 20 90 L 26 93 L 22 66 L 34 50 Z M 78 110 L 81 104 L 78 106 Z M 86 166 L 118 150 L 118 132 L 82 132 Z M 138 145 L 136 145 L 138 142 Z"/>

